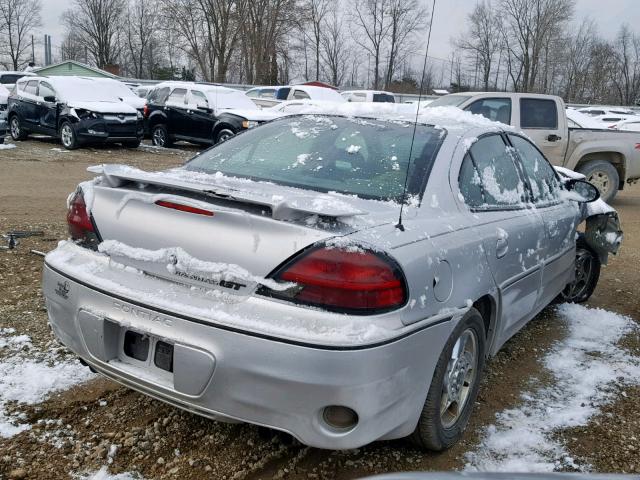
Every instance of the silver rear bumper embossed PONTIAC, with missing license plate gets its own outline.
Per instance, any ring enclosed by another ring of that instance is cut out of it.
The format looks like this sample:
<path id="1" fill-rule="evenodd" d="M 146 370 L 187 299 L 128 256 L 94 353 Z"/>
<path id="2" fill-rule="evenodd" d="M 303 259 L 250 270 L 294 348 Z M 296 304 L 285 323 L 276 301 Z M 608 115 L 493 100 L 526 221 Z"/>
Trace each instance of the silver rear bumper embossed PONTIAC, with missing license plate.
<path id="1" fill-rule="evenodd" d="M 213 419 L 263 425 L 307 445 L 356 448 L 410 434 L 455 325 L 441 321 L 375 346 L 303 345 L 221 328 L 110 295 L 45 265 L 49 322 L 60 341 L 109 378 Z M 274 323 L 276 319 L 274 318 Z M 123 353 L 126 330 L 174 345 L 173 373 Z M 358 414 L 351 430 L 323 420 L 330 405 Z"/>

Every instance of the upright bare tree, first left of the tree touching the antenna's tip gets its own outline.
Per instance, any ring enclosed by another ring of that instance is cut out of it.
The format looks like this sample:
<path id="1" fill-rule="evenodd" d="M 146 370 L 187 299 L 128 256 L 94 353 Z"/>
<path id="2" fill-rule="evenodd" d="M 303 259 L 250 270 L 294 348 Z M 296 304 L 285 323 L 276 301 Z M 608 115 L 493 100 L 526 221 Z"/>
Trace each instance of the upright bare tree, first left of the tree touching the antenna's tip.
<path id="1" fill-rule="evenodd" d="M 380 63 L 389 38 L 389 2 L 391 0 L 354 0 L 353 40 L 373 57 L 373 88 L 380 88 Z"/>

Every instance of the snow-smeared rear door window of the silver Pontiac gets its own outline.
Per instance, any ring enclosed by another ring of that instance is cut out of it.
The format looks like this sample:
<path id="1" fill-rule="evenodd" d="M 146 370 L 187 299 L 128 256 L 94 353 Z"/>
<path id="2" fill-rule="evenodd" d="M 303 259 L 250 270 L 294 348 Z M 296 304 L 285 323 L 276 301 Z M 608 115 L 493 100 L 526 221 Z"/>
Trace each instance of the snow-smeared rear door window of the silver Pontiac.
<path id="1" fill-rule="evenodd" d="M 500 135 L 480 138 L 469 150 L 482 185 L 483 206 L 513 208 L 526 200 L 514 158 Z"/>

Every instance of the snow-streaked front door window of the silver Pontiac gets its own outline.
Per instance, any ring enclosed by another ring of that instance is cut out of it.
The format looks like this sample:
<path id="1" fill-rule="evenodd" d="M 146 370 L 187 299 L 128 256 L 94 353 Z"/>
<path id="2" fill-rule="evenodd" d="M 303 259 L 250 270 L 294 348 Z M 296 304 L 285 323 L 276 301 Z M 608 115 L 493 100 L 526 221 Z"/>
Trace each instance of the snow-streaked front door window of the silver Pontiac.
<path id="1" fill-rule="evenodd" d="M 554 168 L 528 140 L 517 135 L 509 135 L 509 141 L 518 152 L 524 173 L 529 179 L 534 202 L 555 203 L 560 187 Z"/>

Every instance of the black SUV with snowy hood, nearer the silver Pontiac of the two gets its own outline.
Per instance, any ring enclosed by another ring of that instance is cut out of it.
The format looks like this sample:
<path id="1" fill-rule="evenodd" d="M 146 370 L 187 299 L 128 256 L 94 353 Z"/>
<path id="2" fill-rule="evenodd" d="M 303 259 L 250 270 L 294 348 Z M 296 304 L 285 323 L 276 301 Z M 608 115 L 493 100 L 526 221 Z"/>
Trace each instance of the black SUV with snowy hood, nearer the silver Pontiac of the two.
<path id="1" fill-rule="evenodd" d="M 146 130 L 154 145 L 176 140 L 213 145 L 279 116 L 262 111 L 243 93 L 189 82 L 165 82 L 149 92 Z"/>

